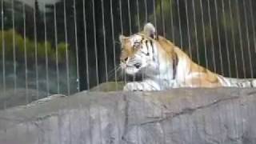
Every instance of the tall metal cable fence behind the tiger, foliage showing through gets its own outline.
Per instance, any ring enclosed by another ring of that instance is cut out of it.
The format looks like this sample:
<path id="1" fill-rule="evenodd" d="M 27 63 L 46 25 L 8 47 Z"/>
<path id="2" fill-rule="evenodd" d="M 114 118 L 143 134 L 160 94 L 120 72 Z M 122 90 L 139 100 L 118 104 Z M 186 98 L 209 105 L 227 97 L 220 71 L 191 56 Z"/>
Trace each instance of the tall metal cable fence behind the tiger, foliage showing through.
<path id="1" fill-rule="evenodd" d="M 199 65 L 255 78 L 255 7 L 253 0 L 1 0 L 0 106 L 122 90 L 143 78 L 120 69 L 118 36 L 146 22 Z"/>

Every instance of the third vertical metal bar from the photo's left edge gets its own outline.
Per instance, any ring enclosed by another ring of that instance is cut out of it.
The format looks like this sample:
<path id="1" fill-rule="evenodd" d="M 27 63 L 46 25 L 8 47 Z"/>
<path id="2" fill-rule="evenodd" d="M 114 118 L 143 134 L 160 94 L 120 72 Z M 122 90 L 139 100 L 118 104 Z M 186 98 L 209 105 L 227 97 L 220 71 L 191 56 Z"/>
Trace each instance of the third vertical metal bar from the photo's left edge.
<path id="1" fill-rule="evenodd" d="M 25 62 L 25 88 L 26 88 L 26 104 L 29 103 L 28 98 L 28 79 L 27 79 L 27 53 L 26 53 L 26 4 L 22 3 L 23 12 L 23 37 L 24 37 L 24 62 Z"/>

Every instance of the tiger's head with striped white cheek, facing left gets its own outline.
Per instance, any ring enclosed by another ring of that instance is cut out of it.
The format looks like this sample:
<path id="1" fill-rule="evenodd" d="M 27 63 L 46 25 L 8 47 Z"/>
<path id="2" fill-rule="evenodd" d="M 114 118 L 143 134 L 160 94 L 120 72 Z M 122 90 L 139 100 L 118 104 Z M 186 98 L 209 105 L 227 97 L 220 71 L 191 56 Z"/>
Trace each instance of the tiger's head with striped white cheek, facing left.
<path id="1" fill-rule="evenodd" d="M 143 70 L 154 69 L 157 35 L 151 23 L 144 30 L 129 37 L 120 35 L 122 45 L 120 64 L 126 74 L 137 74 Z"/>

